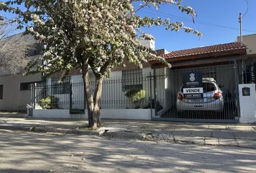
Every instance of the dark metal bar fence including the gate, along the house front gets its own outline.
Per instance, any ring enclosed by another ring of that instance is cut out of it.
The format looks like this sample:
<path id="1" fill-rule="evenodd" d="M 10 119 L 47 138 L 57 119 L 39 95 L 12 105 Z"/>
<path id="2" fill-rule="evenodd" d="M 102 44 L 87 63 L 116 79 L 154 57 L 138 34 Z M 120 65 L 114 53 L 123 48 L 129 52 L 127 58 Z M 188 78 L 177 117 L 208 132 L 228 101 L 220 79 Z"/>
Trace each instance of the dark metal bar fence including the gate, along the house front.
<path id="1" fill-rule="evenodd" d="M 184 73 L 202 74 L 202 97 L 184 96 Z M 154 75 L 104 79 L 101 109 L 151 109 L 153 120 L 189 122 L 239 122 L 238 71 L 234 64 L 197 68 L 158 69 Z M 95 81 L 90 81 L 95 92 Z M 127 94 L 136 97 L 127 97 Z M 35 109 L 65 109 L 84 112 L 83 82 L 45 82 L 33 85 Z"/>

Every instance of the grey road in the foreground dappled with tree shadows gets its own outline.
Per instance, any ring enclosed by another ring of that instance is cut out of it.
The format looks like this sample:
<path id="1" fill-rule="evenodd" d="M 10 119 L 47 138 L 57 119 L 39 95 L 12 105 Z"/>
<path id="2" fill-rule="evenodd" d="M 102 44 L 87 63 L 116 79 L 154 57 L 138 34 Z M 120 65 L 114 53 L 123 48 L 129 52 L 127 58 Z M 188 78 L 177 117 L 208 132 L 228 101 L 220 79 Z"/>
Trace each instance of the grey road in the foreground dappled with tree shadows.
<path id="1" fill-rule="evenodd" d="M 256 172 L 256 150 L 0 130 L 0 172 Z"/>

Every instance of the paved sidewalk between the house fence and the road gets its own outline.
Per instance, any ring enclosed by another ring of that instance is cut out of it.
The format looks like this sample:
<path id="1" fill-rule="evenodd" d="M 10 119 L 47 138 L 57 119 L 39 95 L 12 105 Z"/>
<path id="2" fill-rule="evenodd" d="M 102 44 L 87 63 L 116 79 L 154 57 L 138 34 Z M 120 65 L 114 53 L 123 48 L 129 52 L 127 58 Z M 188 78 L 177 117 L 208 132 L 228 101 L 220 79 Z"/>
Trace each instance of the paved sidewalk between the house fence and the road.
<path id="1" fill-rule="evenodd" d="M 0 129 L 69 133 L 170 143 L 256 148 L 256 125 L 102 120 L 98 130 L 78 130 L 87 120 L 0 117 Z"/>

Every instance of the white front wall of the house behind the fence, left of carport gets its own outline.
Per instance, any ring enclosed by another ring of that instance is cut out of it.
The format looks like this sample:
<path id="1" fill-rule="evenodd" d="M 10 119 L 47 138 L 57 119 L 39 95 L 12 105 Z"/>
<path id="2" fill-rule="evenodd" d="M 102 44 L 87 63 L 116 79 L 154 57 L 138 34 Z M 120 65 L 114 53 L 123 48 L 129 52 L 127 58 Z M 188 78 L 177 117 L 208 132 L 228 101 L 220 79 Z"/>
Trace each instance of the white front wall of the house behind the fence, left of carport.
<path id="1" fill-rule="evenodd" d="M 154 49 L 155 45 L 153 41 L 141 41 L 141 44 L 149 46 Z M 164 50 L 159 50 L 164 52 Z M 142 107 L 148 106 L 150 102 L 150 75 L 153 75 L 153 69 L 150 63 L 145 63 L 143 68 L 140 69 L 137 66 L 124 61 L 126 66 L 116 66 L 112 69 L 108 78 L 103 81 L 103 94 L 102 94 L 102 109 L 126 109 L 135 107 L 129 102 L 129 99 L 125 96 L 127 91 L 131 89 L 143 89 L 145 90 L 145 104 Z M 92 90 L 95 85 L 93 72 L 90 72 Z M 40 97 L 34 97 L 35 102 L 40 102 L 40 99 L 44 97 L 52 96 L 58 100 L 58 107 L 60 109 L 72 109 L 72 110 L 85 110 L 85 97 L 82 81 L 82 73 L 80 70 L 70 71 L 69 76 L 64 82 L 60 82 L 61 74 L 56 73 L 46 79 L 46 83 L 38 88 L 41 88 L 42 93 Z M 47 92 L 45 91 L 47 90 Z M 36 93 L 35 93 L 36 94 Z M 35 107 L 40 109 L 40 105 L 36 104 Z"/>

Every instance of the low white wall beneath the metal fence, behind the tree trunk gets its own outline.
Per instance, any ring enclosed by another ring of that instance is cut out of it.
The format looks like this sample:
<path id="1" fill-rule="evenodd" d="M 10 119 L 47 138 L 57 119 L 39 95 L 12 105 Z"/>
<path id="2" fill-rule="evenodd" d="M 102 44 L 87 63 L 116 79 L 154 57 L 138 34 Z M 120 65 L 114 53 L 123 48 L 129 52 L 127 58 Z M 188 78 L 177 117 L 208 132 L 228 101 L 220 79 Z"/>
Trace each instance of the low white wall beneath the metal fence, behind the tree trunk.
<path id="1" fill-rule="evenodd" d="M 154 113 L 154 110 L 152 110 Z M 88 118 L 85 114 L 69 114 L 69 110 L 33 110 L 35 118 Z M 103 109 L 101 118 L 124 120 L 151 120 L 150 109 Z"/>

